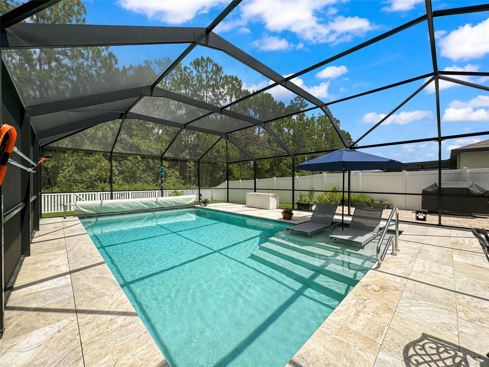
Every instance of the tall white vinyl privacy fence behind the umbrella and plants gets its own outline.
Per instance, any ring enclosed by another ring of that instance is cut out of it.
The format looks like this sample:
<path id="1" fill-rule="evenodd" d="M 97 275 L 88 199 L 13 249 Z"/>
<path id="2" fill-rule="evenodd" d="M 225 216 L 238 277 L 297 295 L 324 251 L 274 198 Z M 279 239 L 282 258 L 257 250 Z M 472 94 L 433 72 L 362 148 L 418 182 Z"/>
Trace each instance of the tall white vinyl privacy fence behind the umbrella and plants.
<path id="1" fill-rule="evenodd" d="M 328 187 L 342 188 L 342 174 L 318 174 L 295 177 L 295 199 L 300 191 L 309 187 L 324 190 Z M 421 194 L 422 189 L 438 182 L 438 171 L 414 172 L 355 172 L 351 174 L 351 190 L 363 192 L 407 192 Z M 489 189 L 489 168 L 442 170 L 443 182 L 471 182 Z M 253 180 L 230 181 L 229 201 L 245 201 L 246 193 L 253 192 Z M 292 202 L 292 192 L 280 189 L 292 189 L 290 177 L 272 177 L 256 180 L 258 192 L 279 194 L 281 203 Z M 345 191 L 348 189 L 348 175 L 345 174 Z M 316 192 L 315 195 L 320 194 Z M 366 194 L 374 200 L 389 201 L 400 209 L 416 210 L 421 208 L 421 195 Z M 213 200 L 226 200 L 226 183 L 212 189 Z"/>

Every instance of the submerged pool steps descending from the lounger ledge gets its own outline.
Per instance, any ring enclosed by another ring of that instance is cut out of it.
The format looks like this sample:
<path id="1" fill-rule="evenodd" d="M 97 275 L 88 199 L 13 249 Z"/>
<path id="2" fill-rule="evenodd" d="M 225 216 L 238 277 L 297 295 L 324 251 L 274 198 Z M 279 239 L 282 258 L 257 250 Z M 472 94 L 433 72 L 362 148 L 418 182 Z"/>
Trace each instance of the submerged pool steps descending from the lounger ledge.
<path id="1" fill-rule="evenodd" d="M 271 237 L 252 252 L 250 258 L 341 301 L 376 261 L 373 256 L 354 255 L 351 256 L 351 252 L 345 254 L 336 246 L 322 244 L 316 247 L 311 242 L 298 244 Z"/>

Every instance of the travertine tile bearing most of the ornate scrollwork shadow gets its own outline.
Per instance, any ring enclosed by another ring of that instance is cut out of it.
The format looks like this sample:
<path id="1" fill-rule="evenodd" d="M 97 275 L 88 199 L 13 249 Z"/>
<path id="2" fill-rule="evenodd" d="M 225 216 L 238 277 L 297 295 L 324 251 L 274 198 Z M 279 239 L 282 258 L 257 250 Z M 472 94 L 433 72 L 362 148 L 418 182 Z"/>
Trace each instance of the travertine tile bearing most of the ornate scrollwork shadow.
<path id="1" fill-rule="evenodd" d="M 406 366 L 458 366 L 460 362 L 456 335 L 397 311 L 381 350 Z"/>

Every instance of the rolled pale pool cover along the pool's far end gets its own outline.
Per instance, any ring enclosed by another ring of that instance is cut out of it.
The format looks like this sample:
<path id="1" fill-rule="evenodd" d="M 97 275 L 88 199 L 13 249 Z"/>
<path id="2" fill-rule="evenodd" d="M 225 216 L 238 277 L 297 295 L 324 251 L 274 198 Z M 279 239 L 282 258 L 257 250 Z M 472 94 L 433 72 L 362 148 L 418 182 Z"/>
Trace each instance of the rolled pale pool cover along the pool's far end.
<path id="1" fill-rule="evenodd" d="M 197 201 L 195 195 L 170 196 L 167 198 L 90 200 L 76 202 L 75 214 L 116 213 L 159 207 L 192 205 Z"/>

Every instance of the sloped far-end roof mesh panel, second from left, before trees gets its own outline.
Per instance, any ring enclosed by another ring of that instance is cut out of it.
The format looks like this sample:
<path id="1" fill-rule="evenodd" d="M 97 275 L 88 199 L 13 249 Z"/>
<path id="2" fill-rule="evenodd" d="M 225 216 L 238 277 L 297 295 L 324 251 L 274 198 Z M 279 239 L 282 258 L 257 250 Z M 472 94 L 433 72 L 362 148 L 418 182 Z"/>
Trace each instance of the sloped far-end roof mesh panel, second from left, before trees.
<path id="1" fill-rule="evenodd" d="M 138 119 L 126 119 L 115 143 L 114 152 L 161 156 L 178 128 Z"/>

